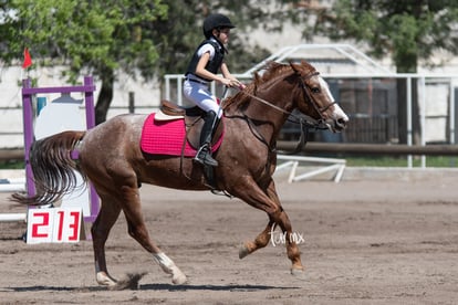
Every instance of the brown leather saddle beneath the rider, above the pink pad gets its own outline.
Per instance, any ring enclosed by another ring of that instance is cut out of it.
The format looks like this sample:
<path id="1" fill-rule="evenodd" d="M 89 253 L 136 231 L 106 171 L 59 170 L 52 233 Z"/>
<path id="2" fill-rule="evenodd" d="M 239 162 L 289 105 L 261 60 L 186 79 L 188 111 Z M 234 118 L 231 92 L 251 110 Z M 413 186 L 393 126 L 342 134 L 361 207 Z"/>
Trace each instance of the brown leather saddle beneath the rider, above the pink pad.
<path id="1" fill-rule="evenodd" d="M 162 99 L 159 112 L 156 114 L 155 119 L 158 120 L 169 120 L 169 119 L 185 119 L 186 127 L 186 137 L 189 145 L 196 149 L 200 146 L 200 132 L 204 127 L 205 112 L 198 106 L 194 107 L 184 107 L 179 106 L 170 101 Z M 222 120 L 221 120 L 222 123 Z M 215 135 L 211 139 L 211 146 L 215 146 L 216 143 L 220 139 L 223 132 L 223 124 L 219 124 Z"/>

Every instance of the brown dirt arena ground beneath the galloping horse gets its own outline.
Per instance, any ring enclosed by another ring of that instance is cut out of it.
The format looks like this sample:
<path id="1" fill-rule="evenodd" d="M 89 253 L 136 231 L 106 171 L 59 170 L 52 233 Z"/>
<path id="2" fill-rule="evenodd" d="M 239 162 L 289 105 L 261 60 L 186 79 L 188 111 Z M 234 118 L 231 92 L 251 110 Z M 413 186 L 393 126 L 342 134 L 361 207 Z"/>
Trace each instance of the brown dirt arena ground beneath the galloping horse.
<path id="1" fill-rule="evenodd" d="M 267 224 L 238 199 L 144 186 L 153 238 L 188 275 L 171 285 L 126 233 L 107 242 L 112 275 L 147 272 L 138 290 L 107 291 L 94 278 L 90 241 L 27 245 L 25 225 L 0 223 L 0 304 L 457 304 L 458 182 L 279 181 L 301 234 L 306 280 L 290 275 L 281 241 L 243 260 L 238 248 Z M 0 211 L 23 211 L 0 193 Z M 278 235 L 275 235 L 278 238 Z"/>

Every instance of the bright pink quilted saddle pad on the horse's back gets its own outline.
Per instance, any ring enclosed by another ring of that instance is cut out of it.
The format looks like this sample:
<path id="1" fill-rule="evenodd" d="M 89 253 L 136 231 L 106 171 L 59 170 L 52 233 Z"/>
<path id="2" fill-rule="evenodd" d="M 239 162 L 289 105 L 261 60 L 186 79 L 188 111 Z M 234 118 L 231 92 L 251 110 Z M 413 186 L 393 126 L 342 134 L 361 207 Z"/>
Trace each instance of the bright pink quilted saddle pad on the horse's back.
<path id="1" fill-rule="evenodd" d="M 186 137 L 185 120 L 183 118 L 171 120 L 156 120 L 155 114 L 146 118 L 140 138 L 140 148 L 150 155 L 181 156 L 183 144 Z M 222 133 L 223 134 L 223 133 Z M 222 135 L 211 147 L 216 151 L 222 143 Z M 197 148 L 186 140 L 184 156 L 196 156 Z"/>

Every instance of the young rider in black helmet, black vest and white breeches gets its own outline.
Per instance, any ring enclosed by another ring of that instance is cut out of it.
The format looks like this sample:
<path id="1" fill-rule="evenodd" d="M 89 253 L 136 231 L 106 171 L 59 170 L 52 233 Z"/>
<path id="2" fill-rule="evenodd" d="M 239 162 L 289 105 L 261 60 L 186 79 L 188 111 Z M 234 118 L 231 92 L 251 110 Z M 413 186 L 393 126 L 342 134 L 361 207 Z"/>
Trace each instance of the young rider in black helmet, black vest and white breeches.
<path id="1" fill-rule="evenodd" d="M 204 127 L 200 134 L 200 148 L 194 160 L 209 166 L 218 166 L 218 161 L 211 157 L 211 138 L 222 116 L 222 111 L 216 96 L 209 91 L 209 84 L 217 81 L 228 87 L 240 87 L 241 84 L 233 77 L 227 64 L 225 54 L 228 51 L 225 44 L 229 41 L 229 32 L 236 28 L 223 14 L 215 13 L 204 20 L 205 40 L 195 51 L 186 71 L 184 83 L 185 96 L 206 112 Z M 222 76 L 217 75 L 221 70 Z"/>

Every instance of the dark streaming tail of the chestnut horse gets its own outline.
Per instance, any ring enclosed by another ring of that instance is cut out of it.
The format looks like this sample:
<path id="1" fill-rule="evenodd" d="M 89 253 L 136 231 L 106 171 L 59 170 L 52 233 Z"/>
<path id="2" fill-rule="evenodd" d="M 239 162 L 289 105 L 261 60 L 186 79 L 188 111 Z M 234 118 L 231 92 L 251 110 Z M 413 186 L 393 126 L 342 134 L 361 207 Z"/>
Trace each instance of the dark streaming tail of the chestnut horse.
<path id="1" fill-rule="evenodd" d="M 12 200 L 29 206 L 44 206 L 55 202 L 77 187 L 75 170 L 80 171 L 84 182 L 87 176 L 72 158 L 85 132 L 63 132 L 32 144 L 30 165 L 35 183 L 35 194 L 12 194 Z"/>

